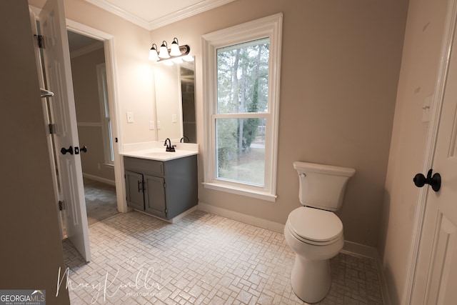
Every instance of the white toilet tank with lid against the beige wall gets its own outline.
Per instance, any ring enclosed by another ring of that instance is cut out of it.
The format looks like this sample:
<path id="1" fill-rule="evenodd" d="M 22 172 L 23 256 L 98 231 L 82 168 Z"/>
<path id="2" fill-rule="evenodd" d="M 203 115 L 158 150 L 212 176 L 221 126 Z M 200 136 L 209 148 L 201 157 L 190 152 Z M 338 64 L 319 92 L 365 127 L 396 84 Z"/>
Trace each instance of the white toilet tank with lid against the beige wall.
<path id="1" fill-rule="evenodd" d="M 355 169 L 326 164 L 293 162 L 298 171 L 298 198 L 303 206 L 338 211 L 343 204 L 344 191 Z"/>

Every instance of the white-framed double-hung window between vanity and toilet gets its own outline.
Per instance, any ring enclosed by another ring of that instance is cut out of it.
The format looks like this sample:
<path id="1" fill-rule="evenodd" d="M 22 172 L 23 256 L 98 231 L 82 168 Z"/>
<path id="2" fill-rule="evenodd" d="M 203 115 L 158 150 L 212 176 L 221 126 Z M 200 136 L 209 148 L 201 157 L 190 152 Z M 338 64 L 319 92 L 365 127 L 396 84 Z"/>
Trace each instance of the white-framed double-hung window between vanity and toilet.
<path id="1" fill-rule="evenodd" d="M 204 186 L 276 200 L 282 14 L 203 36 Z"/>

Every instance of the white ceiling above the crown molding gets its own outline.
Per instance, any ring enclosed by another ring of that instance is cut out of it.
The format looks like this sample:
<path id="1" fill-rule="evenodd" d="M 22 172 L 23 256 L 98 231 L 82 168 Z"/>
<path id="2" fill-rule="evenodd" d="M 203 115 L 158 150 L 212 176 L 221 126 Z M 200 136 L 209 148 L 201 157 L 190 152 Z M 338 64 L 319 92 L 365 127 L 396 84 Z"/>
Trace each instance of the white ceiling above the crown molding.
<path id="1" fill-rule="evenodd" d="M 235 0 L 86 0 L 149 31 Z"/>

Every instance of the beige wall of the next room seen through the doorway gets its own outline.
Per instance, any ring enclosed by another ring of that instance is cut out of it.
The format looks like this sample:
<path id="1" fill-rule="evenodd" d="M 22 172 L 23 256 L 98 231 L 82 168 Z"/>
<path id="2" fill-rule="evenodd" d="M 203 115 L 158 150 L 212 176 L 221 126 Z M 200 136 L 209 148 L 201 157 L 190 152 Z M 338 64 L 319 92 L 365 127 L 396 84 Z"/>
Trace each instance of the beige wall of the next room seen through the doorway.
<path id="1" fill-rule="evenodd" d="M 87 146 L 81 154 L 83 173 L 114 181 L 114 167 L 106 166 L 102 134 L 99 83 L 96 66 L 105 62 L 104 48 L 71 59 L 79 145 Z"/>

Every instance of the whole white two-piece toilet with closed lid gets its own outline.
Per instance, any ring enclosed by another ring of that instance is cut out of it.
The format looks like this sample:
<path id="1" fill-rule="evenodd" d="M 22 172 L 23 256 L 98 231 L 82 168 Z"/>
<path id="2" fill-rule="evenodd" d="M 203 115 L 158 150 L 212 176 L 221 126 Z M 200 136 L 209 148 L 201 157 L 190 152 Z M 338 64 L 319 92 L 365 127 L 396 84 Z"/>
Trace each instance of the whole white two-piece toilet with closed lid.
<path id="1" fill-rule="evenodd" d="M 293 162 L 303 206 L 291 211 L 284 227 L 287 244 L 296 253 L 291 272 L 295 294 L 307 303 L 321 301 L 330 290 L 330 259 L 343 249 L 343 224 L 333 214 L 355 169 Z"/>

